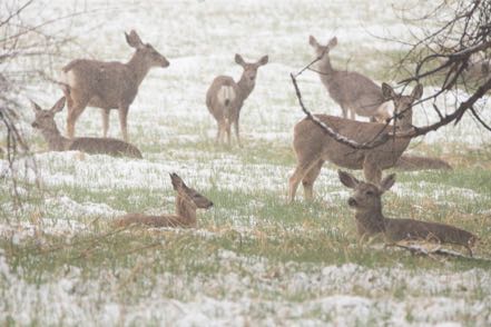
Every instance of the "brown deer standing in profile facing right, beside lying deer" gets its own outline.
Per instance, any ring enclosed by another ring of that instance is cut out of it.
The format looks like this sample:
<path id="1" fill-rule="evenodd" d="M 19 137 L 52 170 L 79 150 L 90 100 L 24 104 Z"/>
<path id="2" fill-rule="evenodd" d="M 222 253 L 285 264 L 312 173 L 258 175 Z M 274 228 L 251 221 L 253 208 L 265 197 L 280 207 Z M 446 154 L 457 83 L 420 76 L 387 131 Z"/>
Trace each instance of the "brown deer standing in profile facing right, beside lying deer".
<path id="1" fill-rule="evenodd" d="M 127 63 L 76 59 L 62 68 L 67 81 L 62 89 L 68 100 L 69 138 L 75 136 L 77 119 L 90 106 L 102 109 L 104 137 L 107 137 L 110 110 L 118 109 L 122 138 L 127 141 L 128 109 L 138 87 L 150 68 L 169 66 L 154 47 L 141 42 L 136 31 L 125 36 L 128 44 L 136 49 Z"/>

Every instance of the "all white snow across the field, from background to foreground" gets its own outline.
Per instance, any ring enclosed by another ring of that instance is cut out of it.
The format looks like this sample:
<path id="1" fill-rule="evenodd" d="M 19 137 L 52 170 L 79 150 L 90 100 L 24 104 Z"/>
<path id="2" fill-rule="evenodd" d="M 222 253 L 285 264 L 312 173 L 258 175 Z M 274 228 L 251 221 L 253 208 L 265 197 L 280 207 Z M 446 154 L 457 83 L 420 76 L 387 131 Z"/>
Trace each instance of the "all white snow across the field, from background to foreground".
<path id="1" fill-rule="evenodd" d="M 404 1 L 409 7 L 414 2 L 423 6 L 421 1 Z M 279 199 L 286 198 L 287 177 L 294 167 L 243 162 L 238 152 L 206 150 L 216 132 L 215 120 L 205 106 L 209 83 L 218 75 L 238 78 L 242 69 L 234 62 L 235 53 L 242 53 L 247 61 L 268 54 L 269 63 L 259 68 L 256 88 L 242 110 L 242 136 L 245 147 L 291 145 L 293 126 L 303 113 L 289 72 L 313 59 L 308 36 L 316 36 L 323 42 L 337 36 L 340 44 L 332 51 L 333 65 L 369 70 L 370 65 L 381 65 L 379 58 L 365 61 L 364 67 L 351 59 L 366 51 L 403 50 L 401 44 L 373 37 L 409 37 L 407 27 L 394 14 L 397 6 L 402 4 L 395 0 L 35 2 L 24 13 L 24 19 L 32 23 L 87 11 L 49 26 L 53 31 L 68 30 L 79 36 L 77 44 L 69 43 L 63 49 L 65 58 L 61 56 L 52 62 L 55 78 L 60 78 L 60 68 L 69 61 L 66 58 L 127 61 L 132 50 L 122 32 L 130 29 L 136 29 L 144 42 L 150 42 L 165 54 L 170 67 L 153 69 L 130 107 L 129 136 L 143 149 L 144 160 L 43 152 L 46 145 L 30 127 L 33 113 L 28 109 L 28 98 L 49 108 L 61 92 L 57 87 L 35 83 L 29 86 L 29 92 L 20 93 L 19 101 L 27 108 L 21 112 L 20 128 L 35 142 L 42 187 L 56 191 L 46 195 L 41 215 L 37 206 L 26 206 L 26 219 L 0 225 L 0 236 L 13 244 L 36 236 L 39 230 L 69 237 L 86 232 L 88 224 L 96 219 L 109 220 L 126 212 L 106 202 L 80 200 L 82 196 L 62 194 L 60 189 L 128 190 L 131 194 L 128 201 L 136 207 L 145 200 L 140 194 L 145 189 L 159 195 L 165 200 L 165 210 L 171 210 L 173 198 L 168 197 L 171 171 L 177 171 L 196 189 L 206 190 L 213 184 L 230 191 L 272 192 Z M 341 113 L 315 73 L 307 71 L 298 81 L 304 101 L 313 112 Z M 454 100 L 448 96 L 438 105 L 451 112 Z M 489 103 L 482 105 L 491 109 Z M 490 121 L 491 110 L 485 110 L 483 117 Z M 436 118 L 431 108 L 415 108 L 415 125 Z M 63 130 L 66 111 L 57 116 L 57 121 Z M 109 133 L 119 137 L 116 112 L 111 113 L 110 122 Z M 97 109 L 88 108 L 82 113 L 77 135 L 101 135 Z M 480 147 L 489 145 L 490 136 L 465 115 L 456 127 L 431 132 L 422 142 Z M 187 147 L 189 143 L 193 147 Z M 204 148 L 198 149 L 194 143 L 203 143 Z M 181 147 L 175 150 L 176 145 Z M 18 165 L 23 167 L 22 160 Z M 0 176 L 6 168 L 7 161 L 0 160 Z M 30 182 L 36 176 L 31 168 L 21 168 L 19 174 Z M 419 180 L 418 172 L 413 176 L 413 180 L 394 186 L 396 196 L 411 196 L 416 200 L 428 197 L 455 205 L 459 199 L 490 198 L 489 194 Z M 0 185 L 0 191 L 4 194 L 7 187 Z M 330 207 L 345 206 L 348 192 L 340 185 L 333 166 L 326 165 L 315 189 Z M 22 186 L 20 190 L 26 192 Z M 261 208 L 267 202 L 258 198 L 245 205 Z M 13 204 L 2 201 L 0 208 L 0 214 L 13 211 Z M 161 212 L 164 208 L 141 210 Z M 267 217 L 244 217 L 234 210 L 227 215 L 227 224 L 234 231 L 249 236 L 255 226 L 267 220 Z M 296 230 L 303 232 L 302 227 Z M 195 232 L 206 237 L 215 235 L 205 229 Z M 491 325 L 491 272 L 484 269 L 453 271 L 451 266 L 442 265 L 441 269 L 425 270 L 397 264 L 390 268 L 354 264 L 322 267 L 273 262 L 226 250 L 217 250 L 216 258 L 203 258 L 208 259 L 219 260 L 218 272 L 209 276 L 161 272 L 155 280 L 146 279 L 155 284 L 149 294 L 121 299 L 118 290 L 124 278 L 119 276 L 131 274 L 126 269 L 118 274 L 101 270 L 98 278 L 87 278 L 79 268 L 67 266 L 63 276 L 35 284 L 27 281 L 26 271 L 13 271 L 0 251 L 0 323 L 12 319 L 16 325 L 68 326 L 460 326 L 462 321 Z"/>

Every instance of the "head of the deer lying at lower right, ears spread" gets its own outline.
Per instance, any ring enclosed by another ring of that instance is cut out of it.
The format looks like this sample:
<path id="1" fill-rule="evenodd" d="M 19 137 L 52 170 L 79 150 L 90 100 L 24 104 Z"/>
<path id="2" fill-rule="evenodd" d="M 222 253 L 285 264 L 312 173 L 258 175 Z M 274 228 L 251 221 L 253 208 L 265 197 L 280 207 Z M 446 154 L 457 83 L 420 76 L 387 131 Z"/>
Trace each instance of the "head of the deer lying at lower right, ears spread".
<path id="1" fill-rule="evenodd" d="M 395 174 L 383 178 L 380 186 L 357 180 L 350 172 L 337 170 L 341 182 L 353 189 L 353 195 L 347 199 L 347 205 L 357 211 L 371 211 L 382 209 L 382 195 L 395 182 Z"/>

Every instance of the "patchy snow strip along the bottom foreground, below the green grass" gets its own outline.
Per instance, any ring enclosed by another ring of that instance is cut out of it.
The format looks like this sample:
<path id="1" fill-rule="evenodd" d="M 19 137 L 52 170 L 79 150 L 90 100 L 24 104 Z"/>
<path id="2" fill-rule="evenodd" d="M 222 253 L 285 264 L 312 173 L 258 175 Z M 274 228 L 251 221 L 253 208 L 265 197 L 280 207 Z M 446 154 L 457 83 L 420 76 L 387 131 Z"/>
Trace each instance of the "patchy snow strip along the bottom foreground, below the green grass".
<path id="1" fill-rule="evenodd" d="M 491 289 L 483 288 L 490 285 L 491 274 L 482 269 L 413 271 L 397 265 L 371 269 L 354 264 L 312 268 L 295 262 L 277 265 L 226 250 L 219 250 L 217 259 L 217 275 L 185 280 L 165 272 L 155 280 L 150 294 L 137 304 L 124 305 L 114 295 L 124 278 L 110 271 L 101 271 L 98 280 L 85 280 L 79 268 L 67 266 L 65 276 L 57 280 L 32 285 L 21 278 L 22 271 L 12 272 L 0 255 L 0 314 L 10 315 L 20 325 L 68 326 L 144 321 L 165 326 L 354 326 L 374 321 L 451 326 L 461 316 L 475 325 L 491 324 Z M 229 271 L 236 265 L 246 274 Z M 275 274 L 269 272 L 273 269 Z M 405 293 L 403 300 L 387 296 L 395 288 Z M 481 298 L 468 298 L 473 291 L 481 293 Z M 306 293 L 314 298 L 302 300 Z M 177 298 L 166 294 L 176 294 Z M 452 296 L 443 296 L 446 294 Z"/>

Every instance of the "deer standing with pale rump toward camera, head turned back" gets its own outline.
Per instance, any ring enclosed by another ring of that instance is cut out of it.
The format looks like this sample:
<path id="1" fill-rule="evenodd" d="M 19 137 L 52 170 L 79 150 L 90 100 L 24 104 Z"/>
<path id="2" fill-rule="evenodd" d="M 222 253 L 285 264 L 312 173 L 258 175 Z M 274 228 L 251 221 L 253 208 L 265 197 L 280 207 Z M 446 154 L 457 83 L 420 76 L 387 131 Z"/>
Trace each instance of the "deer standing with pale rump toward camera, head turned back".
<path id="1" fill-rule="evenodd" d="M 264 56 L 259 61 L 249 63 L 245 62 L 240 54 L 235 54 L 235 62 L 244 68 L 244 72 L 238 82 L 235 82 L 229 76 L 218 76 L 213 80 L 206 93 L 206 106 L 218 125 L 216 135 L 217 142 L 223 139 L 226 132 L 227 142 L 230 145 L 230 126 L 234 125 L 237 143 L 242 146 L 238 128 L 240 109 L 244 101 L 254 90 L 257 69 L 266 65 L 267 60 L 268 57 Z"/>

